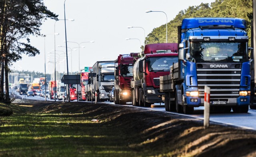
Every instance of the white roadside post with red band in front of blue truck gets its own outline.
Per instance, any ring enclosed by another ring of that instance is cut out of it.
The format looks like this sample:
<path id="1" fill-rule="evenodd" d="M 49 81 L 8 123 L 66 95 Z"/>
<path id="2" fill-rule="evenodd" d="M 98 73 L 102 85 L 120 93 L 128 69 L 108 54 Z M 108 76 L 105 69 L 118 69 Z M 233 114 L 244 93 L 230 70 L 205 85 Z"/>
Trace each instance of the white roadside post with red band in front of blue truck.
<path id="1" fill-rule="evenodd" d="M 210 87 L 204 86 L 204 129 L 209 127 L 210 120 Z"/>

